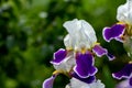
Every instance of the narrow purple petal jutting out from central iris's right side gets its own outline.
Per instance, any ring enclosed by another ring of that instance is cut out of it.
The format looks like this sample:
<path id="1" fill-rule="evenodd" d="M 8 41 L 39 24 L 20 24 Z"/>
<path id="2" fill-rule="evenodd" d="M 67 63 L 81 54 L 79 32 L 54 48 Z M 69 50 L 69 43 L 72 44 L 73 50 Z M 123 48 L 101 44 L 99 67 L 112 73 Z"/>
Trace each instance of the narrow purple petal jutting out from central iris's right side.
<path id="1" fill-rule="evenodd" d="M 107 55 L 109 61 L 112 61 L 114 59 L 114 56 L 111 55 L 110 53 L 108 53 L 108 51 L 106 48 L 103 48 L 102 46 L 100 45 L 95 45 L 95 47 L 92 48 L 94 53 L 96 53 L 96 55 L 98 57 L 101 57 L 102 55 Z"/>

